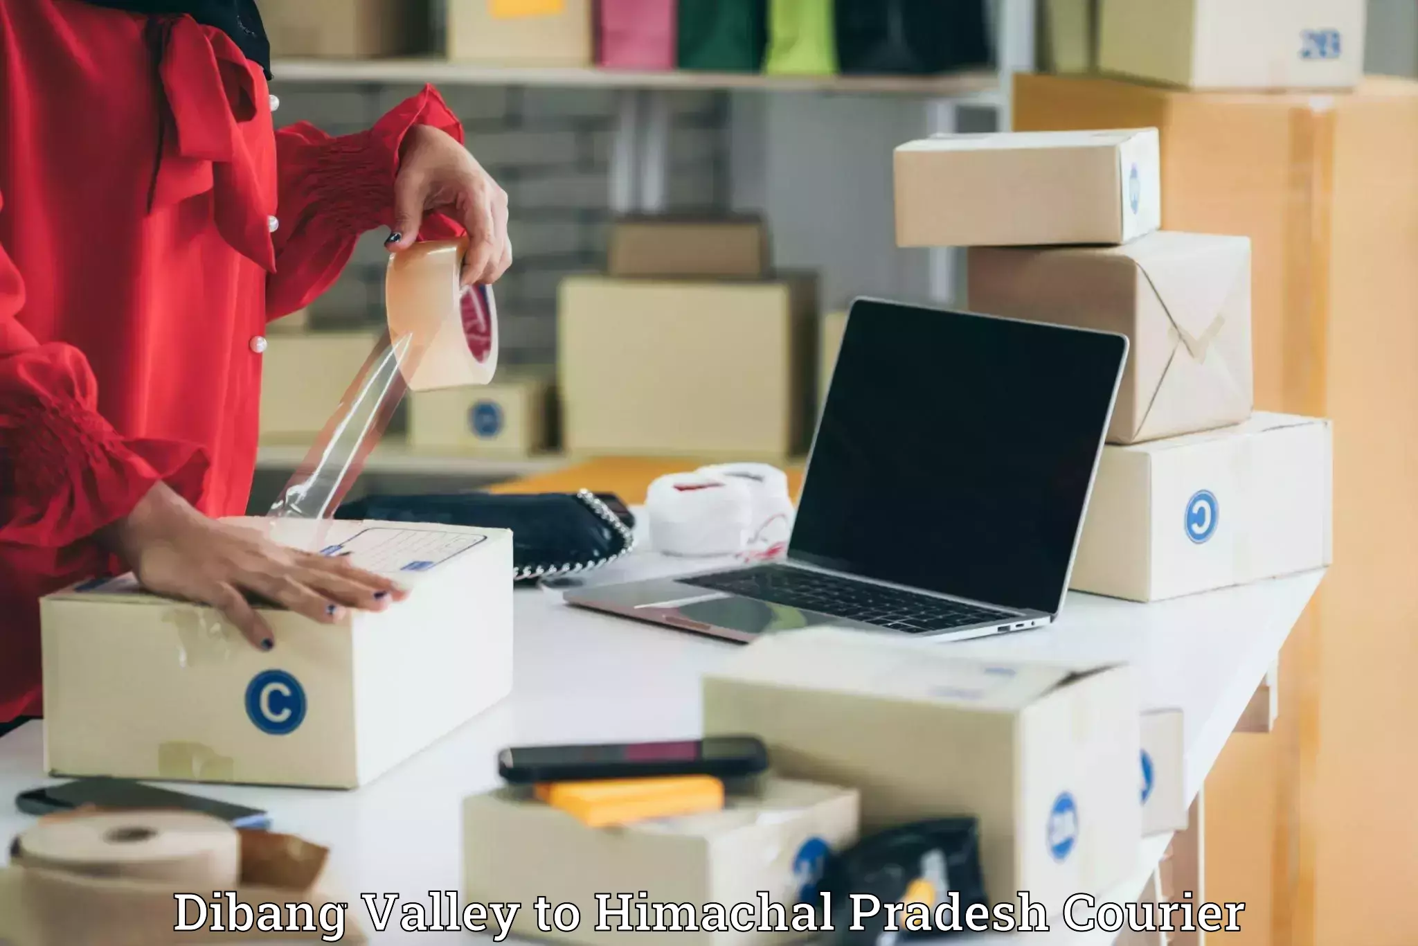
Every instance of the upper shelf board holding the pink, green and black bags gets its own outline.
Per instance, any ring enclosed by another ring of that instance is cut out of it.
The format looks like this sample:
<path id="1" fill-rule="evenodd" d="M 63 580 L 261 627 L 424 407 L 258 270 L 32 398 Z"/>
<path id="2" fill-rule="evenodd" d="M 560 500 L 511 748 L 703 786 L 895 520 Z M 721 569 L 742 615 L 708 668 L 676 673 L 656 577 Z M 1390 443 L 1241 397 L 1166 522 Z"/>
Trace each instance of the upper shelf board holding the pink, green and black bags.
<path id="1" fill-rule="evenodd" d="M 950 75 L 761 75 L 754 72 L 628 72 L 597 68 L 498 67 L 414 60 L 278 60 L 279 82 L 440 82 L 445 85 L 556 85 L 621 89 L 756 89 L 991 99 L 994 71 Z"/>

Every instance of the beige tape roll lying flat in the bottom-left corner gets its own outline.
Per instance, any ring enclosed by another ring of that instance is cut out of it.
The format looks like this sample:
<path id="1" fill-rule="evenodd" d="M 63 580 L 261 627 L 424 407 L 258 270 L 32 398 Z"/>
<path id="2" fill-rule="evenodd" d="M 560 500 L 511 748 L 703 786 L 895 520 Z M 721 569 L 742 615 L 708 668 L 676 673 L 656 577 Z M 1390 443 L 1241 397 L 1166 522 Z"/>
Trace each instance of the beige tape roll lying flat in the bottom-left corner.
<path id="1" fill-rule="evenodd" d="M 241 878 L 241 835 L 191 811 L 102 811 L 41 820 L 16 841 L 23 867 L 78 877 L 230 891 Z"/>

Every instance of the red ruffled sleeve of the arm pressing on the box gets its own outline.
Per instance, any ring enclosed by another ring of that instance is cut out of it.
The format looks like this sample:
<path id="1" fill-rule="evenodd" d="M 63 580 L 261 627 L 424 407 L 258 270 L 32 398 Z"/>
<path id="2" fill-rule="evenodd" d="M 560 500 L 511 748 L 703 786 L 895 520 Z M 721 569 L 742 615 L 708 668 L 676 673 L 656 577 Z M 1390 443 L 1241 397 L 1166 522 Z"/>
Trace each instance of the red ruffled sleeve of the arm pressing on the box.
<path id="1" fill-rule="evenodd" d="M 95 410 L 84 355 L 38 345 L 16 318 L 23 305 L 24 284 L 0 247 L 0 546 L 74 545 L 128 515 L 159 481 L 196 502 L 203 451 L 121 437 Z"/>

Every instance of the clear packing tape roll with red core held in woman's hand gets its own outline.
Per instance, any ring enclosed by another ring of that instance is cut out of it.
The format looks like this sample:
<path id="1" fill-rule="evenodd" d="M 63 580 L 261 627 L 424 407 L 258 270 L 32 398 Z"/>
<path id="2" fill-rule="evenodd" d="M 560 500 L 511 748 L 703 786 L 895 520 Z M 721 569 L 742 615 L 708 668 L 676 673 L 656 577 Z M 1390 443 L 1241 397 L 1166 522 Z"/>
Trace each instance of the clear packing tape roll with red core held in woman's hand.
<path id="1" fill-rule="evenodd" d="M 414 244 L 389 260 L 384 308 L 410 390 L 486 384 L 498 372 L 498 306 L 492 289 L 462 286 L 468 238 Z"/>

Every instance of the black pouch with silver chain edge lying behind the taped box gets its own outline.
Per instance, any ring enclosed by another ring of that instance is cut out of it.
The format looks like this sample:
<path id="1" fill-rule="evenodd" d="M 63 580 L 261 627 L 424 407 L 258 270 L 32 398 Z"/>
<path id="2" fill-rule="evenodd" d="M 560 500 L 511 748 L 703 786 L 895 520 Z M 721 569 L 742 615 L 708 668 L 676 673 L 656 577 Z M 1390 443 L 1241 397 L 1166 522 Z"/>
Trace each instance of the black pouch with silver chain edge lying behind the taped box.
<path id="1" fill-rule="evenodd" d="M 598 569 L 635 545 L 635 519 L 613 495 L 464 492 L 427 496 L 367 496 L 347 502 L 336 519 L 442 522 L 512 530 L 516 581 Z"/>

